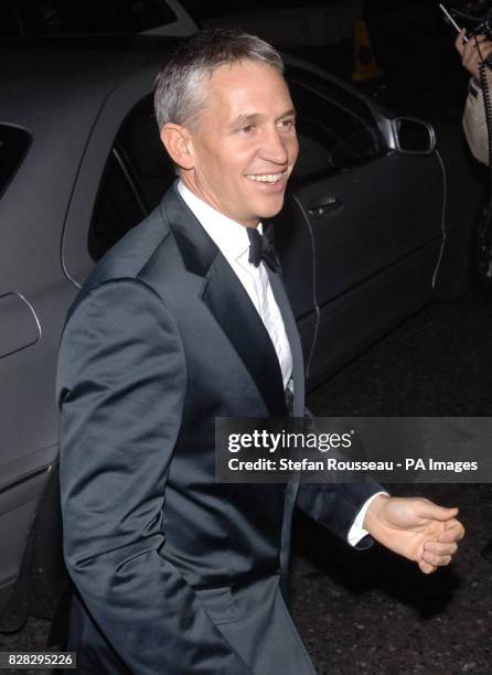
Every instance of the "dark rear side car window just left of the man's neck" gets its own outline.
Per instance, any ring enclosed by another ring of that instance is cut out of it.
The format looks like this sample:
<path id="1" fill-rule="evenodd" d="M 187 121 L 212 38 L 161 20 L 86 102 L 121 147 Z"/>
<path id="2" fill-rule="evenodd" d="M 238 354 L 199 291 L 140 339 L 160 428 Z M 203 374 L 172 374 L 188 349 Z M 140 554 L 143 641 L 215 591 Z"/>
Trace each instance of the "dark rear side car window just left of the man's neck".
<path id="1" fill-rule="evenodd" d="M 88 232 L 93 260 L 138 225 L 174 179 L 159 138 L 152 96 L 147 96 L 124 120 L 106 163 Z"/>

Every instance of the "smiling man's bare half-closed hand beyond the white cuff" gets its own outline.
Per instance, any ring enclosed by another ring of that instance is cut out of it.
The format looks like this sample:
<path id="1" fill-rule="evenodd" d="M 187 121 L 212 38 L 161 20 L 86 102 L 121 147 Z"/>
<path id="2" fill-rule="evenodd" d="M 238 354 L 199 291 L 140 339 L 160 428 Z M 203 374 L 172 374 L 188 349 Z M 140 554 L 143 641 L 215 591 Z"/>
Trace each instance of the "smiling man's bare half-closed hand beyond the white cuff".
<path id="1" fill-rule="evenodd" d="M 364 529 L 391 550 L 418 562 L 428 575 L 451 557 L 463 538 L 458 508 L 445 508 L 424 497 L 378 495 L 364 518 Z"/>

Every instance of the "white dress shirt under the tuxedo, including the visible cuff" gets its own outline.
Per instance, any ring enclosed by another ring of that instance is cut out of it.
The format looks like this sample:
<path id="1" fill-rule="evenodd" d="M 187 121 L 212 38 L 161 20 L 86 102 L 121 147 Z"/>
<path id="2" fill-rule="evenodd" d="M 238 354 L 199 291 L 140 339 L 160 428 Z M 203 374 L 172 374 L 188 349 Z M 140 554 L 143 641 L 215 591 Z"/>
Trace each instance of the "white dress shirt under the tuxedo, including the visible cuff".
<path id="1" fill-rule="evenodd" d="M 249 238 L 246 227 L 215 211 L 210 204 L 206 204 L 191 192 L 181 181 L 178 182 L 178 191 L 190 211 L 233 268 L 260 315 L 277 353 L 284 388 L 287 388 L 292 375 L 292 355 L 284 319 L 275 300 L 265 264 L 261 261 L 258 267 L 255 267 L 248 260 Z M 261 224 L 258 225 L 258 231 L 263 234 Z M 366 511 L 375 496 L 377 495 L 374 494 L 365 502 L 349 532 L 347 540 L 352 546 L 356 546 L 368 534 L 362 527 L 362 524 Z"/>

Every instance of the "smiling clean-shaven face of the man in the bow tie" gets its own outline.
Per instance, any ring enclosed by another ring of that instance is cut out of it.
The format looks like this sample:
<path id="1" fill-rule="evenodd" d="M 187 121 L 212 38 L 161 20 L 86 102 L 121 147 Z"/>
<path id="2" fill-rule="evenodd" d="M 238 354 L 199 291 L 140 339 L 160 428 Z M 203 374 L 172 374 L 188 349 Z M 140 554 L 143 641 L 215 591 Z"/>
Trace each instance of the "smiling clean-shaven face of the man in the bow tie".
<path id="1" fill-rule="evenodd" d="M 256 226 L 281 210 L 298 156 L 287 84 L 272 66 L 243 61 L 202 86 L 205 108 L 189 129 L 193 168 L 181 178 L 216 211 Z"/>

